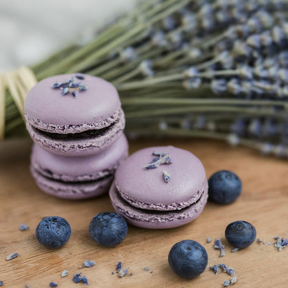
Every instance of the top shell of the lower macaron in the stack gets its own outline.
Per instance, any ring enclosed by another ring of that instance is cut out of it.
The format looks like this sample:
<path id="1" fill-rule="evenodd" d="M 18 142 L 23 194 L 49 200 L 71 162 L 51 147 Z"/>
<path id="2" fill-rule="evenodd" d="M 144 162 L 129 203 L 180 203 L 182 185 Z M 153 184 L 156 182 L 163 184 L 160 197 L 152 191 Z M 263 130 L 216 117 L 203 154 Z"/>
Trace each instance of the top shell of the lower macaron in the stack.
<path id="1" fill-rule="evenodd" d="M 106 150 L 91 156 L 67 157 L 55 155 L 33 145 L 31 165 L 45 177 L 61 181 L 93 181 L 114 174 L 120 161 L 127 157 L 125 134 Z"/>

